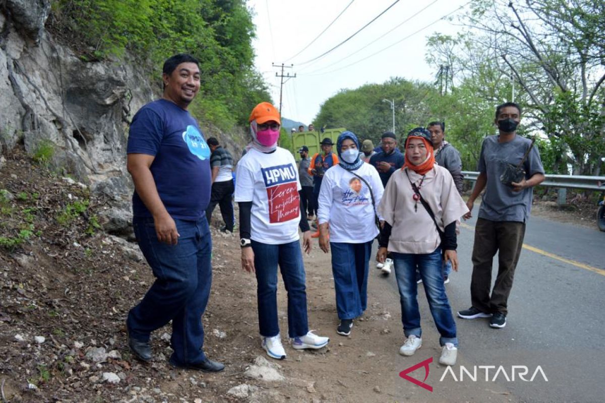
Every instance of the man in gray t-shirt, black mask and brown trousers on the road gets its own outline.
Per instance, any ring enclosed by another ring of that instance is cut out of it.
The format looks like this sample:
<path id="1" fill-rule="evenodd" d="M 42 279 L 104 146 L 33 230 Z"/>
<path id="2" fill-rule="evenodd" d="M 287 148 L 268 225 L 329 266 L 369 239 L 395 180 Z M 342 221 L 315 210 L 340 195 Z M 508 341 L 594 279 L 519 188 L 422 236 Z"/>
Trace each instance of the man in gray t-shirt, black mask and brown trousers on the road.
<path id="1" fill-rule="evenodd" d="M 506 326 L 508 297 L 523 246 L 532 187 L 545 179 L 537 147 L 516 133 L 520 120 L 521 108 L 517 104 L 507 102 L 496 108 L 495 124 L 500 134 L 483 140 L 477 164 L 479 177 L 466 204 L 473 210 L 475 199 L 485 189 L 475 226 L 471 278 L 473 306 L 459 311 L 458 316 L 464 319 L 491 317 L 489 326 L 496 329 Z M 506 167 L 517 166 L 528 150 L 522 164 L 525 176 L 518 182 L 504 184 L 501 176 Z M 471 211 L 464 217 L 470 218 Z M 498 275 L 490 295 L 492 260 L 496 253 L 499 253 Z"/>

